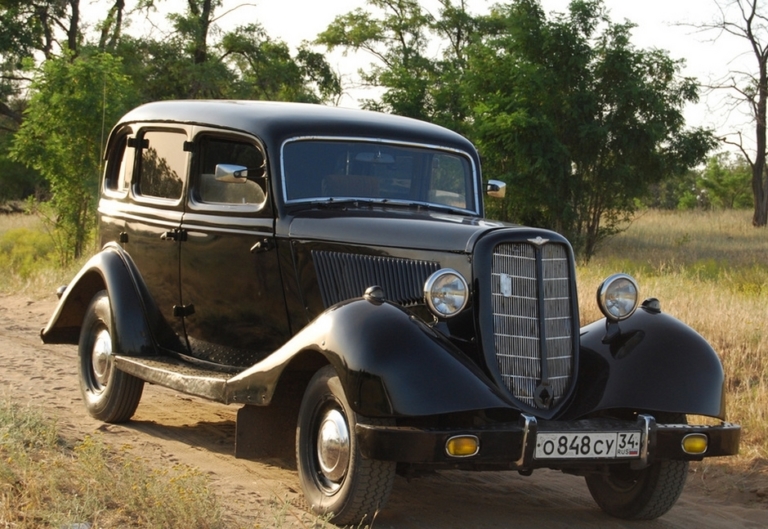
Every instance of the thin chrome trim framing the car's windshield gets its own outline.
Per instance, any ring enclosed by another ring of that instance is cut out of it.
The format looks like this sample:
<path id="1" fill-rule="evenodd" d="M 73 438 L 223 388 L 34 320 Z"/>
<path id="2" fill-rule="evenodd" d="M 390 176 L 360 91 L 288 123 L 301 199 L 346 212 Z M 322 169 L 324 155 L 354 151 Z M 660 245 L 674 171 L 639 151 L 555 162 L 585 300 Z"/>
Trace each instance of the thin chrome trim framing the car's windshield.
<path id="1" fill-rule="evenodd" d="M 455 208 L 452 206 L 447 206 L 445 204 L 436 204 L 433 202 L 420 202 L 420 201 L 414 201 L 414 200 L 392 200 L 392 199 L 386 199 L 386 202 L 382 202 L 382 205 L 385 205 L 387 203 L 390 204 L 424 204 L 424 205 L 436 205 L 440 206 L 442 208 L 450 208 L 454 211 L 460 211 L 464 213 L 472 213 L 474 215 L 481 215 L 480 211 L 480 194 L 478 193 L 478 179 L 479 174 L 477 167 L 475 167 L 475 161 L 472 158 L 472 156 L 466 152 L 462 151 L 461 149 L 455 149 L 453 147 L 445 147 L 443 145 L 433 145 L 429 143 L 415 143 L 415 142 L 408 142 L 408 141 L 399 141 L 399 140 L 390 140 L 390 139 L 384 139 L 384 138 L 368 138 L 368 137 L 360 137 L 360 136 L 295 136 L 293 138 L 288 138 L 283 142 L 283 144 L 280 146 L 280 187 L 283 190 L 283 203 L 284 204 L 305 204 L 309 202 L 317 202 L 318 200 L 322 200 L 324 197 L 314 197 L 314 198 L 307 198 L 307 199 L 293 199 L 288 200 L 288 189 L 286 188 L 286 181 L 285 181 L 285 146 L 289 143 L 299 142 L 299 141 L 337 141 L 337 142 L 357 142 L 357 143 L 381 143 L 386 145 L 399 145 L 402 147 L 416 147 L 419 149 L 431 149 L 431 150 L 438 150 L 443 152 L 450 152 L 456 155 L 460 155 L 469 161 L 469 165 L 472 168 L 472 192 L 474 193 L 474 203 L 475 203 L 475 209 L 462 209 L 462 208 Z M 355 198 L 359 198 L 360 200 L 367 200 L 371 202 L 376 202 L 376 199 L 371 199 L 370 197 L 344 197 L 345 200 L 351 199 L 354 200 Z"/>

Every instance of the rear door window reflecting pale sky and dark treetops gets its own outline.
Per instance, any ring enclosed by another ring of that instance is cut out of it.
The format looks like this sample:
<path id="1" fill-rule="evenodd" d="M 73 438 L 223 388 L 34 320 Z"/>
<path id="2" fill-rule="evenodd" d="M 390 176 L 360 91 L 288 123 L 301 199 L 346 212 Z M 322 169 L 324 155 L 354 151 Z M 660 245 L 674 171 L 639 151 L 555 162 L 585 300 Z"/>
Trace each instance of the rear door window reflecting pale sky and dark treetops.
<path id="1" fill-rule="evenodd" d="M 172 200 L 181 197 L 187 171 L 186 139 L 182 131 L 148 131 L 141 135 L 138 194 Z"/>

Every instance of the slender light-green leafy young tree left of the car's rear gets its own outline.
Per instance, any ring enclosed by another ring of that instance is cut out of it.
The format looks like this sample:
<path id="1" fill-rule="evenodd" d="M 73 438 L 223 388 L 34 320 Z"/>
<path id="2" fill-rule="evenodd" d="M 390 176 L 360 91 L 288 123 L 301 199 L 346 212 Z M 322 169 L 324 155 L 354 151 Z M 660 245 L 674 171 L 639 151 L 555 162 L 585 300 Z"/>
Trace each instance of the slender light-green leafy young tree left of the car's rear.
<path id="1" fill-rule="evenodd" d="M 107 53 L 46 61 L 15 137 L 13 156 L 50 183 L 61 261 L 82 255 L 95 220 L 109 127 L 136 102 L 120 60 Z"/>

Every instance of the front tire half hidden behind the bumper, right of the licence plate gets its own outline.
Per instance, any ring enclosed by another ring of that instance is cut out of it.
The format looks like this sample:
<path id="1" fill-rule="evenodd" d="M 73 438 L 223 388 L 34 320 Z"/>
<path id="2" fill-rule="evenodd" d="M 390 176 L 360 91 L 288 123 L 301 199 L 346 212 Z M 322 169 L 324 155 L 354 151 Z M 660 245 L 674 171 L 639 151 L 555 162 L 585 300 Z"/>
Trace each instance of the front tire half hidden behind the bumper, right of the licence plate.
<path id="1" fill-rule="evenodd" d="M 685 416 L 669 422 L 685 423 Z M 606 513 L 625 520 L 653 520 L 669 511 L 683 492 L 688 461 L 657 461 L 642 470 L 611 465 L 607 474 L 586 476 L 592 498 Z"/>

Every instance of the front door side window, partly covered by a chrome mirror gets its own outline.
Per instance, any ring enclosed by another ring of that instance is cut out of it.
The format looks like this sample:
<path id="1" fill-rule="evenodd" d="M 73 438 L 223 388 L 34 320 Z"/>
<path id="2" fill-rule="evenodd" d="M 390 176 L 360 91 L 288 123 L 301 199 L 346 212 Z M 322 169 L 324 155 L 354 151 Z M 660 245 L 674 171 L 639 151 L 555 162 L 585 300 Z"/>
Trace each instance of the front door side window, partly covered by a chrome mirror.
<path id="1" fill-rule="evenodd" d="M 196 152 L 197 187 L 195 199 L 203 204 L 244 204 L 261 206 L 264 193 L 266 161 L 256 145 L 230 138 L 202 137 Z M 216 168 L 245 168 L 240 178 L 222 178 Z M 262 187 L 264 186 L 264 187 Z"/>

